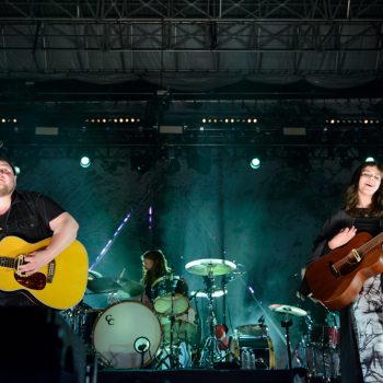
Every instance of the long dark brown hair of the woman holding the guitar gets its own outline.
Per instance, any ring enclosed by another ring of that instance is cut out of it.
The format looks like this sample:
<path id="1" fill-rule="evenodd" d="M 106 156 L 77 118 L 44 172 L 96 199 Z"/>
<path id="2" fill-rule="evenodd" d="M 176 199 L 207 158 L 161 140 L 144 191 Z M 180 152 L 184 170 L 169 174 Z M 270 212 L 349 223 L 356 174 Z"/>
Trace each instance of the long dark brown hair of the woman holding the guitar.
<path id="1" fill-rule="evenodd" d="M 351 216 L 355 214 L 357 205 L 359 202 L 359 197 L 358 197 L 359 179 L 362 172 L 368 166 L 376 167 L 381 172 L 381 175 L 383 176 L 383 165 L 375 161 L 364 162 L 353 172 L 351 181 L 345 194 L 345 209 Z M 383 216 L 383 181 L 381 181 L 381 185 L 379 186 L 379 189 L 372 196 L 371 206 L 369 207 L 368 210 L 370 216 Z"/>

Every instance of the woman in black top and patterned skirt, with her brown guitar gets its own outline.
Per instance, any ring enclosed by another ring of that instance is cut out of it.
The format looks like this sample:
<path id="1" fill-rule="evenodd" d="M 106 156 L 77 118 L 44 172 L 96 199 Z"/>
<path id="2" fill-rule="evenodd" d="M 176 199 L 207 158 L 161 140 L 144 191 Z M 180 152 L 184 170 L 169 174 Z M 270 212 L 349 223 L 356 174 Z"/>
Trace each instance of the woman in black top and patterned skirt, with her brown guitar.
<path id="1" fill-rule="evenodd" d="M 301 292 L 340 311 L 344 383 L 383 382 L 383 166 L 365 162 L 314 241 Z M 380 234 L 381 233 L 381 234 Z"/>

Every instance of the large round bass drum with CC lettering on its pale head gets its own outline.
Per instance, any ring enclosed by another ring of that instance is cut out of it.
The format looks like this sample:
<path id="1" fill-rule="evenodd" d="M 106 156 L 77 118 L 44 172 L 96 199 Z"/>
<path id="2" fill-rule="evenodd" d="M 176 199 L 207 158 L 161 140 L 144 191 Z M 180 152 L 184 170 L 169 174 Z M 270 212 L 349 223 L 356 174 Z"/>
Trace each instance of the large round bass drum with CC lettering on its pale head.
<path id="1" fill-rule="evenodd" d="M 160 348 L 161 326 L 142 303 L 119 302 L 97 317 L 92 340 L 107 367 L 142 368 L 152 362 Z"/>

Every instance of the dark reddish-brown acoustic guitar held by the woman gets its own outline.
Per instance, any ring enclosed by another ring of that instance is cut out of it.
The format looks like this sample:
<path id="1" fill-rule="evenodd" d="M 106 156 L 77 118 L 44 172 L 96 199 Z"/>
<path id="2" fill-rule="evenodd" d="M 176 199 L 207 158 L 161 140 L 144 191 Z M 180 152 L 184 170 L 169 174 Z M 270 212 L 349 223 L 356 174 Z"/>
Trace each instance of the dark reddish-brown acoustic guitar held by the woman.
<path id="1" fill-rule="evenodd" d="M 311 297 L 329 310 L 355 302 L 367 279 L 383 272 L 383 232 L 360 232 L 346 245 L 310 264 L 304 279 Z"/>

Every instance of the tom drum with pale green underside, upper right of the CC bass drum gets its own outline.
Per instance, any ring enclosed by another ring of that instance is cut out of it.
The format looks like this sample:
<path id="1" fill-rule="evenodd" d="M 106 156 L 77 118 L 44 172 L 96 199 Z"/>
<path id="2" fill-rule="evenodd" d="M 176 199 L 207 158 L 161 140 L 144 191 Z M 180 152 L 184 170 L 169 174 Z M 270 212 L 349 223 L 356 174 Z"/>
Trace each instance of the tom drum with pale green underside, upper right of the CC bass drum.
<path id="1" fill-rule="evenodd" d="M 179 277 L 161 277 L 151 287 L 153 306 L 162 315 L 183 314 L 189 307 L 187 285 Z"/>

